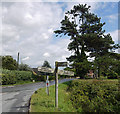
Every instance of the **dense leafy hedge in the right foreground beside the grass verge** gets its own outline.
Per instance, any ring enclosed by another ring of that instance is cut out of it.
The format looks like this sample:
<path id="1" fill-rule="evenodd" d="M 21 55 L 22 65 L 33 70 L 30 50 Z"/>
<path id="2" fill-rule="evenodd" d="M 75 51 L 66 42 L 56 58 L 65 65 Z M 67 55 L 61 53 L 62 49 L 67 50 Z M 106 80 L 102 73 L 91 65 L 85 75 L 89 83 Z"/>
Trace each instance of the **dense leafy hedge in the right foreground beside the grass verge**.
<path id="1" fill-rule="evenodd" d="M 77 80 L 68 90 L 78 112 L 120 112 L 118 81 Z"/>

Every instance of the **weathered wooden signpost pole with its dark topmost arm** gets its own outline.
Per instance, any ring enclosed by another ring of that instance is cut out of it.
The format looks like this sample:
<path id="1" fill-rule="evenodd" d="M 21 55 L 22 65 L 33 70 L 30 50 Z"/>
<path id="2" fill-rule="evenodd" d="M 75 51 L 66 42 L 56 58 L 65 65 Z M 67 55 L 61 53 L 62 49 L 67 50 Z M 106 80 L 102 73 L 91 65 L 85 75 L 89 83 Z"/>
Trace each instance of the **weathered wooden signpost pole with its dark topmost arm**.
<path id="1" fill-rule="evenodd" d="M 58 108 L 58 67 L 67 66 L 67 62 L 55 62 L 55 107 Z"/>

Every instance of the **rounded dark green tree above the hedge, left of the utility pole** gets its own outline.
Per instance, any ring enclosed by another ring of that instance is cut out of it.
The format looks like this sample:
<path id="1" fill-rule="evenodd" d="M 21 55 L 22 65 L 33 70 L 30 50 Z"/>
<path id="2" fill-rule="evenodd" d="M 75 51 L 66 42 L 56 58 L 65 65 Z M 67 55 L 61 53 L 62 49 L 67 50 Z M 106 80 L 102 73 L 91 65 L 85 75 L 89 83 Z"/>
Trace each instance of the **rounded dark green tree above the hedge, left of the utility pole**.
<path id="1" fill-rule="evenodd" d="M 12 56 L 1 56 L 2 57 L 2 68 L 8 70 L 17 70 L 17 62 Z"/>

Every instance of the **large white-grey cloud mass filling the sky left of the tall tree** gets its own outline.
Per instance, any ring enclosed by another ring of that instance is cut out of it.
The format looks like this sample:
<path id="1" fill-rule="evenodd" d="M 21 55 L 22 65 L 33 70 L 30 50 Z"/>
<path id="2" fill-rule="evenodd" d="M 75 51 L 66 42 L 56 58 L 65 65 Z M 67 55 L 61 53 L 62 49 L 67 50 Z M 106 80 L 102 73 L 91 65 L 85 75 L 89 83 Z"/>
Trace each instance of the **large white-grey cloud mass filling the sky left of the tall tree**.
<path id="1" fill-rule="evenodd" d="M 53 31 L 59 28 L 64 14 L 61 6 L 43 2 L 3 3 L 2 9 L 2 54 L 17 58 L 20 52 L 21 62 L 32 67 L 42 65 L 46 59 L 54 66 L 55 60 L 65 53 L 61 47 L 67 49 L 68 41 L 54 41 Z"/>

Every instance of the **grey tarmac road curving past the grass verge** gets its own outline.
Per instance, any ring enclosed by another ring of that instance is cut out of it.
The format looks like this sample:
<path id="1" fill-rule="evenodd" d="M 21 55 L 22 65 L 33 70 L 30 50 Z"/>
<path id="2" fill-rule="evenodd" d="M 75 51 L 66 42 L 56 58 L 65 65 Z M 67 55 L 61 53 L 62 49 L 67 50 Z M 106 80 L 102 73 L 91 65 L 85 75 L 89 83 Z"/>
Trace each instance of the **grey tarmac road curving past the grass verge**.
<path id="1" fill-rule="evenodd" d="M 61 79 L 59 83 L 74 80 Z M 49 85 L 55 84 L 50 81 Z M 28 112 L 29 100 L 31 95 L 39 88 L 46 87 L 45 82 L 38 82 L 32 84 L 16 85 L 2 88 L 2 112 Z"/>

